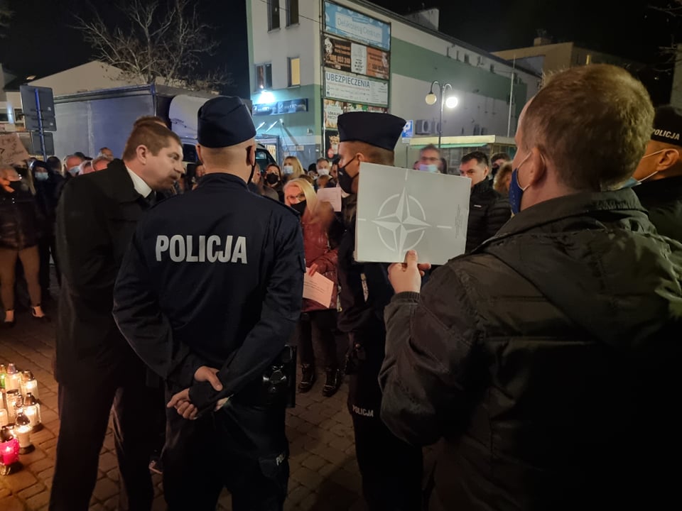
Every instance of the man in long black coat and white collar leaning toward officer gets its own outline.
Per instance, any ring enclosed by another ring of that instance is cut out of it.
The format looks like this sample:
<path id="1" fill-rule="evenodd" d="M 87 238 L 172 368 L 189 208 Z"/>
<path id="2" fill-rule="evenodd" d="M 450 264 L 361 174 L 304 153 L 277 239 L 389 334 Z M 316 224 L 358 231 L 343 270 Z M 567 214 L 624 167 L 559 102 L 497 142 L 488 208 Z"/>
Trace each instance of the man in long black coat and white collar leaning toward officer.
<path id="1" fill-rule="evenodd" d="M 144 123 L 132 131 L 123 160 L 71 179 L 57 211 L 62 287 L 55 378 L 60 431 L 50 510 L 87 510 L 99 451 L 114 410 L 121 506 L 148 510 L 148 470 L 163 392 L 146 386 L 146 367 L 112 316 L 114 281 L 137 221 L 183 171 L 180 139 Z"/>

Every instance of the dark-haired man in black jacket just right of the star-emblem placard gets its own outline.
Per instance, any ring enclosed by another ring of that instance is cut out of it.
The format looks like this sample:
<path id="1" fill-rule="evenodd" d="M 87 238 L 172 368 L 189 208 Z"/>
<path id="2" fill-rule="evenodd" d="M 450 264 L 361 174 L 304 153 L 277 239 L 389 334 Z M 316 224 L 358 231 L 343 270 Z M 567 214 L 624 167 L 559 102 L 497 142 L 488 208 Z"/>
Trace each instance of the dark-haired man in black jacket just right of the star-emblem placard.
<path id="1" fill-rule="evenodd" d="M 474 151 L 462 158 L 460 175 L 471 180 L 467 253 L 494 236 L 511 216 L 507 197 L 493 189 L 489 173 L 485 153 Z"/>

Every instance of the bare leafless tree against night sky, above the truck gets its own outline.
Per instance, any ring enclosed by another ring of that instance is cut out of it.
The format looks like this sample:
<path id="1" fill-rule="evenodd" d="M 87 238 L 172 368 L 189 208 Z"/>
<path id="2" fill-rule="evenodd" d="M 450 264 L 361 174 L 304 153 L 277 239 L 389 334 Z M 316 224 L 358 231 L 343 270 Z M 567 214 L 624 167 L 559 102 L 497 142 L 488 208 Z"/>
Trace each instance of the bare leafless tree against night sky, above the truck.
<path id="1" fill-rule="evenodd" d="M 118 6 L 125 26 L 112 27 L 93 9 L 88 20 L 77 16 L 76 28 L 99 60 L 119 67 L 124 77 L 153 84 L 206 89 L 232 84 L 224 71 L 197 76 L 201 59 L 219 43 L 212 27 L 200 19 L 190 0 L 128 0 Z"/>

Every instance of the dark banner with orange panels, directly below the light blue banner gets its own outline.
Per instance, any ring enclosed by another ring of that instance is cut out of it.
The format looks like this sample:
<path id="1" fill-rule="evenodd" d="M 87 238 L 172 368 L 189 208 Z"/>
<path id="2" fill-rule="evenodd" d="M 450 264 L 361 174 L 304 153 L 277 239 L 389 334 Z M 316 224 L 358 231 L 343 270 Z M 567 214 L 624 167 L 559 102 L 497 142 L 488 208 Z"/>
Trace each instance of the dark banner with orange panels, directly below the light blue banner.
<path id="1" fill-rule="evenodd" d="M 349 40 L 325 35 L 325 67 L 359 75 L 389 79 L 389 53 Z"/>

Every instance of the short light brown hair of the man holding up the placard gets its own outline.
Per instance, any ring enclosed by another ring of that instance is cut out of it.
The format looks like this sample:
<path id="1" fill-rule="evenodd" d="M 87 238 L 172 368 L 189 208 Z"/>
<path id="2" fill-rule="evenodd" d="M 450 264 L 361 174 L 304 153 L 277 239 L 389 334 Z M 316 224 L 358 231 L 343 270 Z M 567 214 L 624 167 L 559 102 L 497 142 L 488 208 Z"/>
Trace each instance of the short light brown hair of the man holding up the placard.
<path id="1" fill-rule="evenodd" d="M 653 123 L 649 93 L 622 67 L 573 67 L 549 76 L 531 99 L 522 142 L 551 161 L 563 185 L 597 192 L 632 175 Z"/>

